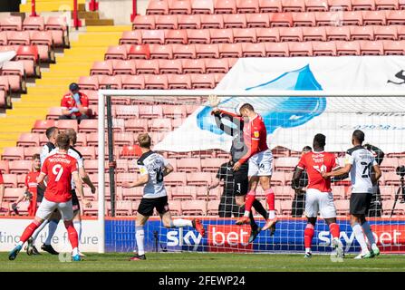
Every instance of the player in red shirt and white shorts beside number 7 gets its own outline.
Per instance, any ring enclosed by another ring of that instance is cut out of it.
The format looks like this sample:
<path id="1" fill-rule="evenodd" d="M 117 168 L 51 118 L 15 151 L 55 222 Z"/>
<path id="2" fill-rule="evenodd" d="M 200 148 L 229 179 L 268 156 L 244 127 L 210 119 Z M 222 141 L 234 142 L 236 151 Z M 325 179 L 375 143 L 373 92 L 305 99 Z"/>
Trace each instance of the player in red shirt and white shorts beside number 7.
<path id="1" fill-rule="evenodd" d="M 308 223 L 304 229 L 305 257 L 311 257 L 311 244 L 318 213 L 321 213 L 333 237 L 332 247 L 338 257 L 343 257 L 343 246 L 339 239 L 340 228 L 336 224 L 336 208 L 333 203 L 331 179 L 323 179 L 321 172 L 331 172 L 339 167 L 333 153 L 324 152 L 326 137 L 316 134 L 313 138 L 313 151 L 305 153 L 298 162 L 293 176 L 293 188 L 299 188 L 299 180 L 304 169 L 308 174 L 308 187 L 305 195 L 305 216 Z"/>

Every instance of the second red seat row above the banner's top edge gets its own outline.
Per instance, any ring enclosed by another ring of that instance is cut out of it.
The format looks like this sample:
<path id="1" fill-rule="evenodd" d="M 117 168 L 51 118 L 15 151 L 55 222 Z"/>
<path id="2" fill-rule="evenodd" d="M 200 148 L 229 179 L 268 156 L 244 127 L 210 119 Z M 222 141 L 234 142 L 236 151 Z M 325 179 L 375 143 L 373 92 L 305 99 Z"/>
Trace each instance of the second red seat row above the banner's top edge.
<path id="1" fill-rule="evenodd" d="M 273 28 L 227 28 L 227 29 L 187 29 L 150 30 L 126 32 L 121 44 L 151 44 L 149 48 L 139 47 L 139 53 L 159 58 L 164 50 L 160 45 L 170 43 L 262 43 L 288 41 L 331 41 L 331 40 L 402 40 L 405 39 L 405 25 L 348 25 L 320 27 L 273 27 Z M 109 53 L 107 53 L 109 54 Z"/>

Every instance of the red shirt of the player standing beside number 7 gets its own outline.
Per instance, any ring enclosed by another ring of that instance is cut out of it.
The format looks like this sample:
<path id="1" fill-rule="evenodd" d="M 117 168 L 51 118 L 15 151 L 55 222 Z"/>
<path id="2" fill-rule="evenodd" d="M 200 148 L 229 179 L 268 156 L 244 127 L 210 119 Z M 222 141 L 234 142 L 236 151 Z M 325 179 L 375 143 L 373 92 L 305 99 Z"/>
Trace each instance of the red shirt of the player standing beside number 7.
<path id="1" fill-rule="evenodd" d="M 331 192 L 331 179 L 323 179 L 321 171 L 331 172 L 339 167 L 336 157 L 330 152 L 308 152 L 301 157 L 297 167 L 306 169 L 308 174 L 308 189 L 318 189 L 321 192 Z"/>

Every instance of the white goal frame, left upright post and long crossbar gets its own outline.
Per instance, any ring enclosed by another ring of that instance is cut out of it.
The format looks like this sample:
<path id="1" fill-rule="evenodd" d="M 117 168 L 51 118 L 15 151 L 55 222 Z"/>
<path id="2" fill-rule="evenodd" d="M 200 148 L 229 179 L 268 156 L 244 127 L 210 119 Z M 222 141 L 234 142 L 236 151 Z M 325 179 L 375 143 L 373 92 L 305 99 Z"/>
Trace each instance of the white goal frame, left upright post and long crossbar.
<path id="1" fill-rule="evenodd" d="M 105 105 L 107 97 L 168 97 L 168 96 L 234 96 L 234 97 L 398 97 L 405 93 L 400 91 L 367 92 L 367 91 L 219 91 L 219 90 L 100 90 L 99 104 Z M 98 252 L 105 252 L 105 106 L 98 108 Z"/>

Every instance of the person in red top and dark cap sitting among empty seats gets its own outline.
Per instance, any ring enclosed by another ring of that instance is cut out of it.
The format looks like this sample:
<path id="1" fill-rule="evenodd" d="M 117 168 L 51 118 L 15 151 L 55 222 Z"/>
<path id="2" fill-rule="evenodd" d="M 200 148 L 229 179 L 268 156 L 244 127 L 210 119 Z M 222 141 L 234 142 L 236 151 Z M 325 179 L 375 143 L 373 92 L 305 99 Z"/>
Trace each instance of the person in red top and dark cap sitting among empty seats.
<path id="1" fill-rule="evenodd" d="M 82 92 L 79 92 L 79 85 L 71 83 L 70 92 L 63 95 L 61 101 L 62 115 L 60 120 L 77 120 L 89 119 L 89 98 Z"/>

